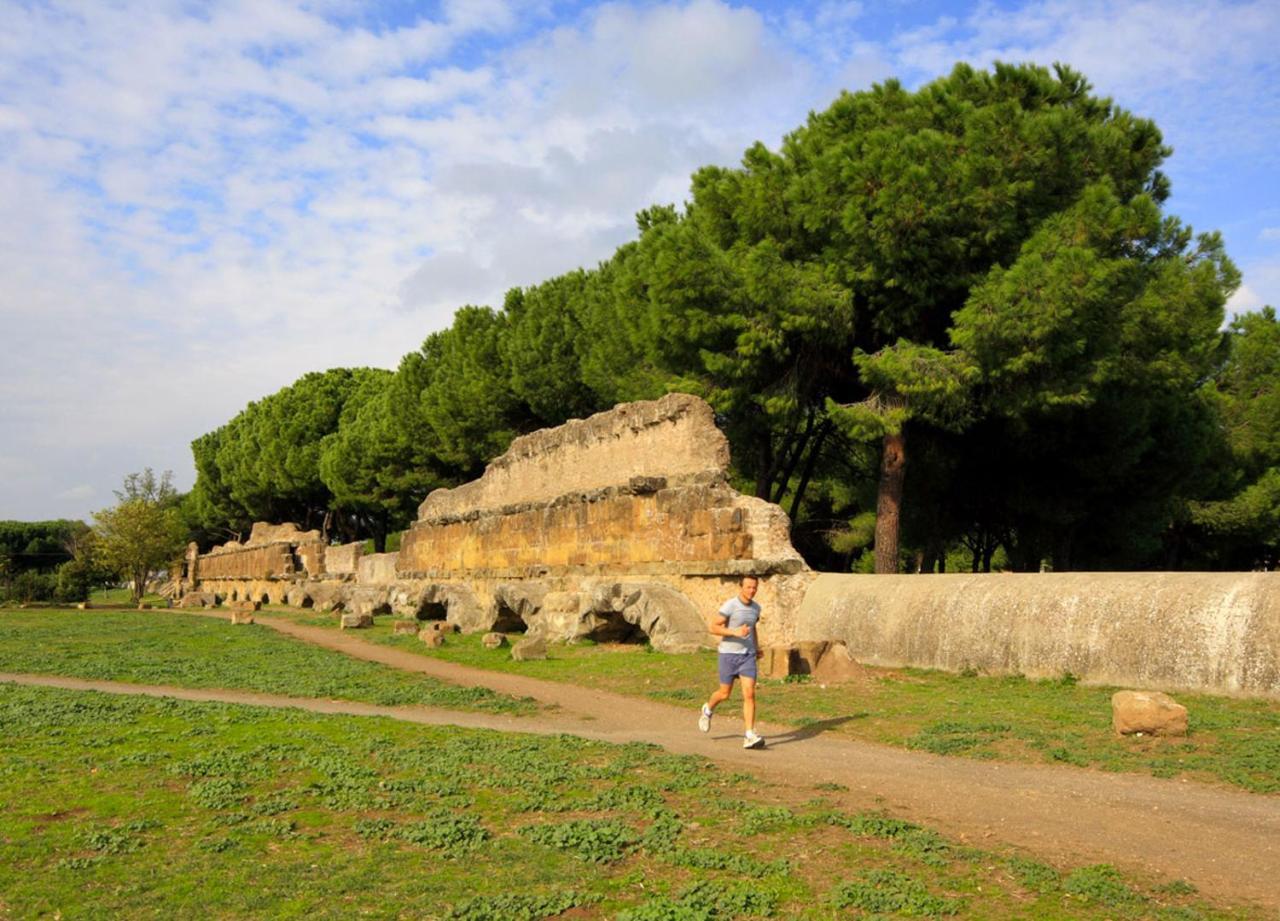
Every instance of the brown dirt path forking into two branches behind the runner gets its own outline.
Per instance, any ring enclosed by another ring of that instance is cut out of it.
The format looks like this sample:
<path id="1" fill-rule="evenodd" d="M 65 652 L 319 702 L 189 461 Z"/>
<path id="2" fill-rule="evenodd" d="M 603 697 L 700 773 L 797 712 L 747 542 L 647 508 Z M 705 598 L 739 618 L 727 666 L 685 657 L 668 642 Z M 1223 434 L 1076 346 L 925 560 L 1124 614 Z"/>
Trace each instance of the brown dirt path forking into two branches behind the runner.
<path id="1" fill-rule="evenodd" d="M 653 742 L 668 751 L 703 755 L 750 770 L 767 783 L 791 787 L 838 783 L 849 788 L 840 797 L 847 808 L 886 808 L 973 844 L 1016 844 L 1046 858 L 1108 862 L 1169 879 L 1181 878 L 1215 898 L 1248 899 L 1280 909 L 1280 797 L 1068 766 L 945 759 L 826 737 L 822 724 L 803 729 L 765 724 L 762 732 L 769 738 L 769 747 L 742 751 L 741 723 L 727 712 L 704 736 L 696 730 L 691 707 L 472 669 L 284 619 L 260 618 L 259 623 L 353 657 L 454 684 L 534 697 L 554 709 L 536 716 L 512 718 L 46 675 L 0 674 L 0 681 L 297 706 L 430 724 L 572 733 L 620 743 Z"/>

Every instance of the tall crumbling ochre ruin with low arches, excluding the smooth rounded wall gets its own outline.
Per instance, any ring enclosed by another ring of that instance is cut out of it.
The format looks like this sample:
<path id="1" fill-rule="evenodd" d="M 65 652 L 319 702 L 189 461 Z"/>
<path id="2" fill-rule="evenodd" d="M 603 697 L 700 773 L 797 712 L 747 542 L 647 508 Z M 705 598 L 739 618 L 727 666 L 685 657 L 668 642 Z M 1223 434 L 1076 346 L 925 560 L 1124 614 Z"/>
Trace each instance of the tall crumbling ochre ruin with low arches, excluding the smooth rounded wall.
<path id="1" fill-rule="evenodd" d="M 728 460 L 696 397 L 622 404 L 518 437 L 479 480 L 436 490 L 398 553 L 256 524 L 243 545 L 188 555 L 182 604 L 252 600 L 690 651 L 709 645 L 707 617 L 742 574 L 762 577 L 780 624 L 808 578 L 786 514 L 733 490 Z"/>

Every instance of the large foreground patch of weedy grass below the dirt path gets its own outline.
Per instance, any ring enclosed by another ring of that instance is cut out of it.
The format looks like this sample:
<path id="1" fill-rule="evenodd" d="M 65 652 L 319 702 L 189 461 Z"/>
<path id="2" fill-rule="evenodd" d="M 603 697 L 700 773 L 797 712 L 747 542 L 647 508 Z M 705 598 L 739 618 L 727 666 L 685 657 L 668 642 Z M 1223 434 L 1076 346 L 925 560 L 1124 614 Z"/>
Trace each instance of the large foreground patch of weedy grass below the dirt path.
<path id="1" fill-rule="evenodd" d="M 0 684 L 0 918 L 1254 917 L 649 746 Z"/>

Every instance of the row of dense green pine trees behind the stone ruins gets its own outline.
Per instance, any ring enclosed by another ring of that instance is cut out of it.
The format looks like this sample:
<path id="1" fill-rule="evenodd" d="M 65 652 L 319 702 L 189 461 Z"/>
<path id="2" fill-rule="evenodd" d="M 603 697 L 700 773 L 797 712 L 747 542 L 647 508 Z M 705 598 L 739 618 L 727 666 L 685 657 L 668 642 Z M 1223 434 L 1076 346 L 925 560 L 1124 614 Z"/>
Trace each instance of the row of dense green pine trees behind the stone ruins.
<path id="1" fill-rule="evenodd" d="M 1065 68 L 842 93 L 590 270 L 307 374 L 192 444 L 207 546 L 378 547 L 521 432 L 672 390 L 836 571 L 1275 567 L 1280 325 L 1164 211 L 1156 125 Z"/>

